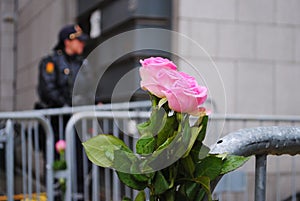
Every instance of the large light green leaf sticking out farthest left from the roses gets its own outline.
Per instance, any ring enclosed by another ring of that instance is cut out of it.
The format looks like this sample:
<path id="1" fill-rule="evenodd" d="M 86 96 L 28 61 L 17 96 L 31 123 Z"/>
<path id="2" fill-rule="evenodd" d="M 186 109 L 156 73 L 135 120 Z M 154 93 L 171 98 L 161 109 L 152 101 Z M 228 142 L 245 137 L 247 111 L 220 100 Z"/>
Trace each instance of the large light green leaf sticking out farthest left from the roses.
<path id="1" fill-rule="evenodd" d="M 119 138 L 101 134 L 82 143 L 91 162 L 101 167 L 112 167 L 116 150 L 132 152 Z"/>

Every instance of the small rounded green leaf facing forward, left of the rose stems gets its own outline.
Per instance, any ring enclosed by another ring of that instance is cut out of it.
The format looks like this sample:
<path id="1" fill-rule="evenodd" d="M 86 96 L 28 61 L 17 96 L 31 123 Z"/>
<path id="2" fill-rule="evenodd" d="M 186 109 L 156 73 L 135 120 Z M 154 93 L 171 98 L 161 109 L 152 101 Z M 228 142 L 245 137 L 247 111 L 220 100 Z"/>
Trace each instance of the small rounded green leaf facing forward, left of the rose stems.
<path id="1" fill-rule="evenodd" d="M 156 140 L 154 137 L 142 136 L 136 143 L 138 154 L 151 154 L 154 151 Z"/>

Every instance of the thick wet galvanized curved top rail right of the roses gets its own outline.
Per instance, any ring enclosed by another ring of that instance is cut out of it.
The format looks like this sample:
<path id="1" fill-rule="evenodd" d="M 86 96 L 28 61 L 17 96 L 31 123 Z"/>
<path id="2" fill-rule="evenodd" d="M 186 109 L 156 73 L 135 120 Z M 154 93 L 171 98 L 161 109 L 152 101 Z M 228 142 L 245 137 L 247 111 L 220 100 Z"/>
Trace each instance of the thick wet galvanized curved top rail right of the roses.
<path id="1" fill-rule="evenodd" d="M 235 155 L 300 154 L 300 127 L 270 126 L 232 132 L 213 145 L 211 153 Z"/>

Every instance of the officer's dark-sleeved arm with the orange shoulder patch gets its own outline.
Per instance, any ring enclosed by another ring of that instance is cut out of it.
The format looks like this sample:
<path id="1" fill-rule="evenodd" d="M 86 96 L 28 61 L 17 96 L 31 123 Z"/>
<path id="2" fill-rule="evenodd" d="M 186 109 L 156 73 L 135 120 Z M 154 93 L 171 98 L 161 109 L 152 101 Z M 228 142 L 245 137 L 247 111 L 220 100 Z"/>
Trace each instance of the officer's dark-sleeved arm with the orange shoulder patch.
<path id="1" fill-rule="evenodd" d="M 41 100 L 52 106 L 63 106 L 65 100 L 56 84 L 57 69 L 51 59 L 43 59 L 39 65 L 38 92 Z"/>

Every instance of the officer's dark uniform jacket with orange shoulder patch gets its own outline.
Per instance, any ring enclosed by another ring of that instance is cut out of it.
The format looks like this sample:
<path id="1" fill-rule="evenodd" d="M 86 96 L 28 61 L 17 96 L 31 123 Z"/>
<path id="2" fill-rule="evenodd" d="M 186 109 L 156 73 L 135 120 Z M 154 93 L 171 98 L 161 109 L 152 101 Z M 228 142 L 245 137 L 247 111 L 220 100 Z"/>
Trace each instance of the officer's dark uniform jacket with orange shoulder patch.
<path id="1" fill-rule="evenodd" d="M 72 89 L 83 63 L 79 56 L 68 56 L 55 51 L 39 64 L 38 94 L 46 108 L 71 106 Z"/>

